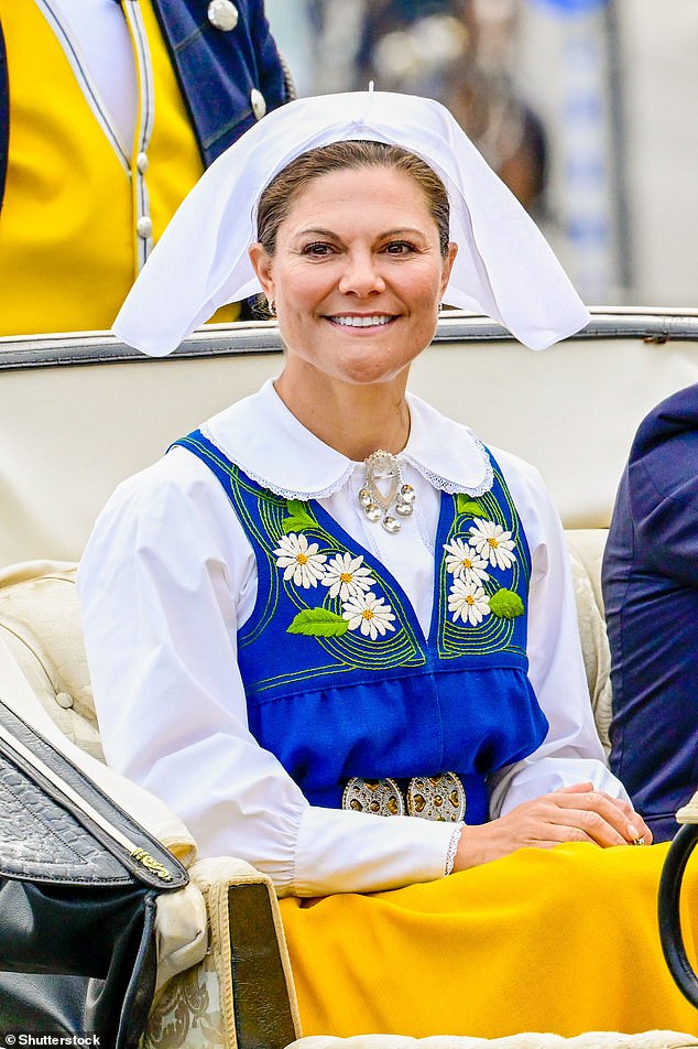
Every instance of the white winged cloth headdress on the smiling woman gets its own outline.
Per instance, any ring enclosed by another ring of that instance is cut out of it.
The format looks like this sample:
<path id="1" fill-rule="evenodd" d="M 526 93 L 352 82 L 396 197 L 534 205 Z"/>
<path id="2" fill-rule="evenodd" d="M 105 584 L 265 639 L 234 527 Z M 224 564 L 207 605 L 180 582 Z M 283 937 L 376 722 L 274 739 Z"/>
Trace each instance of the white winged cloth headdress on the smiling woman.
<path id="1" fill-rule="evenodd" d="M 450 239 L 459 246 L 445 302 L 501 322 L 532 349 L 588 323 L 545 238 L 444 106 L 412 95 L 356 91 L 275 109 L 211 164 L 135 281 L 114 334 L 164 356 L 218 306 L 260 291 L 248 248 L 262 191 L 301 153 L 347 139 L 401 145 L 443 180 Z"/>

